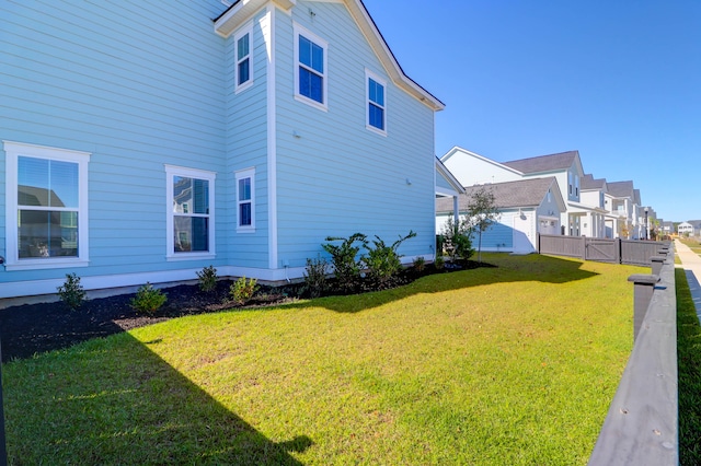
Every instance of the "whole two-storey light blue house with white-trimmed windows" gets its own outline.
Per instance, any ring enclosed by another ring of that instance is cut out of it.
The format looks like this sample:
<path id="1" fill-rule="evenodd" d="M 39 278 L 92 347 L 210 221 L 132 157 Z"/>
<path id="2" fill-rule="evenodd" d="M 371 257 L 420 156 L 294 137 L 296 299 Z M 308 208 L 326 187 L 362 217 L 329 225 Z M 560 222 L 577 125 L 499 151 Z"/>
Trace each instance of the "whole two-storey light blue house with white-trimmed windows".
<path id="1" fill-rule="evenodd" d="M 227 3 L 233 3 L 227 5 Z M 0 3 L 0 298 L 433 258 L 434 114 L 359 0 Z"/>

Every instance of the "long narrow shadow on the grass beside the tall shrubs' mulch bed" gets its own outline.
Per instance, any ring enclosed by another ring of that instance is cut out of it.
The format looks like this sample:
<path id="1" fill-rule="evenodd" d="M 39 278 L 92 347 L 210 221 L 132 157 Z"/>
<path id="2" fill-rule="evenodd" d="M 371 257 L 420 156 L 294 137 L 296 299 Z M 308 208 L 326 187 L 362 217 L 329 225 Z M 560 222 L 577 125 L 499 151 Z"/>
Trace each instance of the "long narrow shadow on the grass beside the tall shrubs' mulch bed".
<path id="1" fill-rule="evenodd" d="M 585 280 L 598 275 L 583 270 L 582 261 L 537 254 L 527 256 L 491 254 L 485 257 L 484 261 L 491 263 L 496 267 L 480 267 L 449 273 L 430 275 L 407 286 L 391 290 L 343 298 L 321 298 L 314 300 L 313 305 L 340 313 L 356 313 L 422 293 L 440 293 L 470 287 L 517 281 L 566 283 Z M 308 303 L 299 303 L 286 305 L 285 308 L 307 306 L 309 306 Z"/>

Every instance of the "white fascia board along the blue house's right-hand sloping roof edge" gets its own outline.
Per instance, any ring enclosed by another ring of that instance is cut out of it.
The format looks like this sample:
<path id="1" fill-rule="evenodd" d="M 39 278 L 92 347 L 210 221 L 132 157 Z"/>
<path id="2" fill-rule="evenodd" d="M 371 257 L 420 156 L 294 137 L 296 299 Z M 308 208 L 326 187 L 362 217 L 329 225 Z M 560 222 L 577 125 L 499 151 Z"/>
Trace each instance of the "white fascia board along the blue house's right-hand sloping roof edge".
<path id="1" fill-rule="evenodd" d="M 392 82 L 434 112 L 440 112 L 446 108 L 443 102 L 404 74 L 363 2 L 360 0 L 345 0 L 345 3 L 370 47 L 372 47 L 384 66 L 384 71 L 390 75 Z"/>

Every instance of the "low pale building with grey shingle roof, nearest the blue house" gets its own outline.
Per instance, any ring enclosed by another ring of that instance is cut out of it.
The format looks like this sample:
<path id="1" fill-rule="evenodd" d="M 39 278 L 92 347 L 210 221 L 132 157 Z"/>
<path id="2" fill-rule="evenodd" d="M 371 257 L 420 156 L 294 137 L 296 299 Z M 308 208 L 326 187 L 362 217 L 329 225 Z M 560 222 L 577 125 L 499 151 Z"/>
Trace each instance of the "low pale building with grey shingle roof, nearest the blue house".
<path id="1" fill-rule="evenodd" d="M 458 197 L 461 219 L 469 213 L 472 193 L 483 188 L 494 195 L 499 219 L 482 234 L 482 251 L 532 253 L 537 251 L 538 233 L 560 234 L 560 218 L 565 211 L 565 202 L 555 177 L 466 187 L 466 194 Z M 452 200 L 436 199 L 437 231 L 445 229 L 451 214 Z M 476 247 L 476 238 L 473 240 Z"/>

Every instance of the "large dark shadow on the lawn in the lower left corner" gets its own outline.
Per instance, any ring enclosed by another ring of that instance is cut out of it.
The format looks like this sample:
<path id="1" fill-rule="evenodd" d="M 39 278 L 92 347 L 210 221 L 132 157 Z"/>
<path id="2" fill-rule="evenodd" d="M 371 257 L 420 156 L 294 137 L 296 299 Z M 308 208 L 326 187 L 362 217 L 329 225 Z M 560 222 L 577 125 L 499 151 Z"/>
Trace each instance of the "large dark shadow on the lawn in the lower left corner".
<path id="1" fill-rule="evenodd" d="M 129 334 L 5 365 L 10 464 L 300 465 Z"/>

